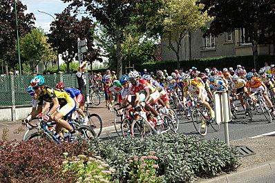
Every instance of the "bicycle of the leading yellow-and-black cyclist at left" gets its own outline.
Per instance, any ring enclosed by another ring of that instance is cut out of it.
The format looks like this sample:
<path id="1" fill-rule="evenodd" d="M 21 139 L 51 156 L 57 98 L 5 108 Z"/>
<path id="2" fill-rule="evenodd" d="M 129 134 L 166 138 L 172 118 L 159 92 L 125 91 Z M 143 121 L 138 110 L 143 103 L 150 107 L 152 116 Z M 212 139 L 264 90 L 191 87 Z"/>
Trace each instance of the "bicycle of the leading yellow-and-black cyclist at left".
<path id="1" fill-rule="evenodd" d="M 34 120 L 34 119 L 32 119 Z M 46 139 L 49 142 L 56 142 L 60 144 L 61 141 L 59 139 L 59 135 L 53 129 L 53 126 L 56 124 L 55 122 L 45 122 L 43 119 L 35 119 L 37 120 L 37 124 L 31 124 L 28 122 L 26 126 L 30 126 L 28 131 L 23 135 L 23 141 L 28 141 L 32 139 Z M 68 122 L 70 126 L 72 126 L 75 130 L 75 137 L 72 139 L 72 135 L 69 132 L 64 132 L 64 141 L 73 142 L 78 139 L 94 139 L 95 132 L 93 128 L 89 126 L 79 125 L 76 122 Z M 28 135 L 30 131 L 35 130 L 35 133 L 31 133 Z"/>

